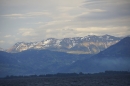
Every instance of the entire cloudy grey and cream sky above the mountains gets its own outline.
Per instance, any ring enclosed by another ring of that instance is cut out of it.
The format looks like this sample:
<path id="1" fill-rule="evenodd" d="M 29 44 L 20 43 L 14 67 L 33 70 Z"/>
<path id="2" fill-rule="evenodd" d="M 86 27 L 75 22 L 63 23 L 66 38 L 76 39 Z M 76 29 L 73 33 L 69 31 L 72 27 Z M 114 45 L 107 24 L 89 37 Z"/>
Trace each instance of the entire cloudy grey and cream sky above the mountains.
<path id="1" fill-rule="evenodd" d="M 0 0 L 0 47 L 87 35 L 130 35 L 130 0 Z"/>

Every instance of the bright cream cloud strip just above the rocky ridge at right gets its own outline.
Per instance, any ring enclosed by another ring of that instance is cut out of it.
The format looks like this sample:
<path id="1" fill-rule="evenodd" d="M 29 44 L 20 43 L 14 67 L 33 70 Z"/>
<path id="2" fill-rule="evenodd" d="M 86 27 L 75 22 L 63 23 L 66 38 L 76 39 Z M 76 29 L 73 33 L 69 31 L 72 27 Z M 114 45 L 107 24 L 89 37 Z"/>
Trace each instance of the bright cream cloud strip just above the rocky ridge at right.
<path id="1" fill-rule="evenodd" d="M 113 36 L 124 36 L 130 34 L 130 29 L 128 27 L 87 27 L 87 28 L 76 28 L 74 29 L 77 33 L 81 32 L 82 34 L 96 34 L 104 35 L 110 34 Z"/>

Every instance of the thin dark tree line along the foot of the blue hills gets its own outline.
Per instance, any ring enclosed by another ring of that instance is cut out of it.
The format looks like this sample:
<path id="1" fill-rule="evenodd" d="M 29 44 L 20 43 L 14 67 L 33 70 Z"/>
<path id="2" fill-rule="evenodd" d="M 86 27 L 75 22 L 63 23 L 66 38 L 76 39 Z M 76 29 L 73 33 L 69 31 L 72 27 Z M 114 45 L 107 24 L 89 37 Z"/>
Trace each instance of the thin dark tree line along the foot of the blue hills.
<path id="1" fill-rule="evenodd" d="M 19 75 L 19 76 L 14 76 L 14 75 L 7 75 L 5 78 L 10 79 L 10 78 L 35 78 L 35 77 L 71 77 L 71 76 L 85 76 L 85 75 L 103 75 L 103 74 L 130 74 L 130 71 L 105 71 L 105 72 L 100 72 L 100 73 L 57 73 L 57 74 L 44 74 L 44 75 Z"/>

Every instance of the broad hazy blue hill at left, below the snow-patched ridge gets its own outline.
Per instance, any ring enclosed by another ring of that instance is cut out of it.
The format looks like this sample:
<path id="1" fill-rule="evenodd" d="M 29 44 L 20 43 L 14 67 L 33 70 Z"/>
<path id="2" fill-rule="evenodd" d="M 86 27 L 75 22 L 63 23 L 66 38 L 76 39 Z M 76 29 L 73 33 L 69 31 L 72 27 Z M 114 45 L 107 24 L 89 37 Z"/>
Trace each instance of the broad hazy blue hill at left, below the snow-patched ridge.
<path id="1" fill-rule="evenodd" d="M 57 73 L 91 55 L 74 55 L 50 50 L 26 50 L 20 53 L 0 52 L 0 76 Z"/>

